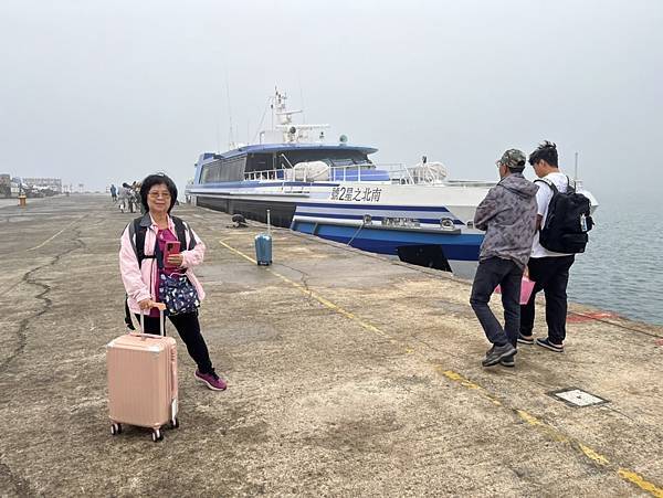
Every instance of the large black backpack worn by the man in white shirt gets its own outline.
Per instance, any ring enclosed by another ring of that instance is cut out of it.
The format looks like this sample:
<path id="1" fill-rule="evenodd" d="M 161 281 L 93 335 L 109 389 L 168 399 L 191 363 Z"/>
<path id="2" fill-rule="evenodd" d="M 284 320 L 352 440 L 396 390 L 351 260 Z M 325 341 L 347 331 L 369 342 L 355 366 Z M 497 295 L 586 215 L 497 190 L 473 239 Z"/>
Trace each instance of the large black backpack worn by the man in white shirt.
<path id="1" fill-rule="evenodd" d="M 561 193 L 549 180 L 538 179 L 552 190 L 552 198 L 548 204 L 548 215 L 539 233 L 539 243 L 555 253 L 577 254 L 583 253 L 593 227 L 590 215 L 590 202 L 581 193 L 576 192 L 576 184 L 569 177 L 568 188 Z"/>

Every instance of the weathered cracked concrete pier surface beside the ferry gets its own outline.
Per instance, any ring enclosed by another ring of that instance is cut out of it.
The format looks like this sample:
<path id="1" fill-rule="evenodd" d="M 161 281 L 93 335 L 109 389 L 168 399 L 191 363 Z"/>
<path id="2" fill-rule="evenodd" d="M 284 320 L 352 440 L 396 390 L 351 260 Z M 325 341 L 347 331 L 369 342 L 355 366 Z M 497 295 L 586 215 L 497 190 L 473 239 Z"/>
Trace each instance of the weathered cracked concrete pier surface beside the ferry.
<path id="1" fill-rule="evenodd" d="M 175 213 L 208 246 L 229 389 L 197 383 L 178 338 L 181 426 L 155 444 L 110 436 L 106 410 L 131 215 L 106 195 L 0 209 L 0 496 L 663 497 L 662 328 L 573 305 L 564 354 L 483 369 L 467 282 L 287 230 L 259 267 L 263 226 Z M 573 389 L 594 399 L 555 395 Z"/>

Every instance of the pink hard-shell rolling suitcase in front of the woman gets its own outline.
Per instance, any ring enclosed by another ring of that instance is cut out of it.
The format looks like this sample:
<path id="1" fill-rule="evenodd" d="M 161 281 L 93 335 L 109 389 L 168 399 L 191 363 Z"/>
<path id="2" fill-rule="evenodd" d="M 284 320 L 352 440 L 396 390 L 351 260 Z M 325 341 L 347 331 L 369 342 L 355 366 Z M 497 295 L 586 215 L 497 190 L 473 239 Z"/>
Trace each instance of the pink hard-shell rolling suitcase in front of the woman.
<path id="1" fill-rule="evenodd" d="M 110 434 L 122 433 L 122 424 L 152 430 L 156 443 L 164 438 L 161 427 L 177 420 L 177 349 L 175 339 L 161 335 L 125 333 L 106 346 L 108 368 L 108 416 Z M 140 317 L 141 329 L 143 317 Z"/>

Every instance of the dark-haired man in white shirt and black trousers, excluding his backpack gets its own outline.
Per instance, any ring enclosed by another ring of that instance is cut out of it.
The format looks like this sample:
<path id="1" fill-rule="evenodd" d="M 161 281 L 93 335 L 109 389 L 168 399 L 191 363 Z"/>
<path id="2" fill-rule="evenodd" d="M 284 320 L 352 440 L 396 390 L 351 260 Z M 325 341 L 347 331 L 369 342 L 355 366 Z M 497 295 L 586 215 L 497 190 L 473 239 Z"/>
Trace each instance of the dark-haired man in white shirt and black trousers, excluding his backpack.
<path id="1" fill-rule="evenodd" d="M 564 352 L 566 339 L 567 315 L 567 285 L 569 283 L 569 268 L 573 264 L 575 255 L 555 253 L 545 248 L 540 242 L 540 230 L 546 223 L 548 205 L 552 199 L 552 183 L 559 192 L 569 188 L 569 178 L 559 170 L 557 146 L 544 141 L 529 155 L 529 163 L 539 178 L 535 183 L 539 187 L 536 194 L 536 235 L 532 246 L 532 257 L 527 265 L 529 278 L 536 282 L 529 301 L 520 307 L 520 332 L 518 342 L 532 345 L 535 342 L 533 330 L 535 319 L 534 300 L 539 290 L 546 295 L 546 324 L 548 337 L 536 339 L 536 343 L 550 351 Z"/>

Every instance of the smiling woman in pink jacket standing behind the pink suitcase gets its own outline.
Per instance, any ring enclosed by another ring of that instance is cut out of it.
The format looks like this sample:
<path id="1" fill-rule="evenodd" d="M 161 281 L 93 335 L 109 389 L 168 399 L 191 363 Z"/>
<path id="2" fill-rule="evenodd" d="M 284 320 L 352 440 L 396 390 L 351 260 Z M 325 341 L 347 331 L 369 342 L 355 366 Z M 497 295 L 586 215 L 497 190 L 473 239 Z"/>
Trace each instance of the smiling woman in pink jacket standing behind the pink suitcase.
<path id="1" fill-rule="evenodd" d="M 176 200 L 177 187 L 172 180 L 166 174 L 150 174 L 143 180 L 140 187 L 140 202 L 146 211 L 138 223 L 139 232 L 145 233 L 143 251 L 136 247 L 134 222 L 129 223 L 122 234 L 119 269 L 127 290 L 127 304 L 137 317 L 144 315 L 147 333 L 159 333 L 159 312 L 154 306 L 159 301 L 158 283 L 161 273 L 185 273 L 196 288 L 198 299 L 204 298 L 202 286 L 191 268 L 202 263 L 206 247 L 186 223 L 183 223 L 186 241 L 180 241 L 181 252 L 169 255 L 166 262 L 157 261 L 159 257 L 164 258 L 166 242 L 178 240 L 176 223 L 169 215 Z M 139 254 L 143 261 L 139 261 Z M 172 269 L 169 271 L 168 267 Z M 225 382 L 214 372 L 207 345 L 200 333 L 198 309 L 169 315 L 168 318 L 198 364 L 196 379 L 214 391 L 225 390 Z"/>

